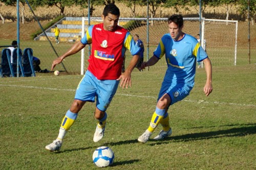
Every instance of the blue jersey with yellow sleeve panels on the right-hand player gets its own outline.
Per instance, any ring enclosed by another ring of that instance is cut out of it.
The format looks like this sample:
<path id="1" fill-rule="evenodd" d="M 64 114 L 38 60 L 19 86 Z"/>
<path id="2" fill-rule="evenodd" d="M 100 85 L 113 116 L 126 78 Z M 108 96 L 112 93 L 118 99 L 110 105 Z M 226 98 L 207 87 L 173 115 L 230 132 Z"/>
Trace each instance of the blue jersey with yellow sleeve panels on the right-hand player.
<path id="1" fill-rule="evenodd" d="M 188 34 L 179 41 L 174 41 L 170 34 L 163 35 L 154 55 L 159 59 L 165 55 L 168 67 L 165 78 L 172 79 L 173 84 L 186 83 L 191 87 L 194 86 L 196 62 L 208 57 L 197 39 Z"/>

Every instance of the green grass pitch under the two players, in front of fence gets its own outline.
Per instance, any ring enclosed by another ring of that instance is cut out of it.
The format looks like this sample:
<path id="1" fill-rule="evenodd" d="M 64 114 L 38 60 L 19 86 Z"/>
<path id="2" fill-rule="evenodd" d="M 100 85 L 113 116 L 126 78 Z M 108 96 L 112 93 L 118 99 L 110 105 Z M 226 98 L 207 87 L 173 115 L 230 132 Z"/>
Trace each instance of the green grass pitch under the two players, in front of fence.
<path id="1" fill-rule="evenodd" d="M 197 69 L 190 95 L 169 110 L 173 135 L 145 144 L 137 138 L 155 111 L 164 69 L 135 70 L 132 87 L 118 88 L 108 108 L 104 138 L 92 140 L 95 104 L 87 103 L 57 153 L 45 146 L 57 137 L 82 76 L 50 75 L 0 79 L 0 169 L 98 169 L 92 154 L 102 145 L 115 152 L 104 169 L 256 169 L 255 64 L 214 67 L 208 97 L 205 71 Z"/>

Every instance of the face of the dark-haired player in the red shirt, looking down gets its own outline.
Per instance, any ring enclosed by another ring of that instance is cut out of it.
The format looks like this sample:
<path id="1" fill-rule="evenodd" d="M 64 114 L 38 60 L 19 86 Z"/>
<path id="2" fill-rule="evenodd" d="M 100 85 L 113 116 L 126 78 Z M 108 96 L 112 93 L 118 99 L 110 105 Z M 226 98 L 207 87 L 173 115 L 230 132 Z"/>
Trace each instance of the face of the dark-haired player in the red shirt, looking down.
<path id="1" fill-rule="evenodd" d="M 103 19 L 103 29 L 106 31 L 114 31 L 116 29 L 119 16 L 108 13 L 108 15 L 105 17 L 102 15 L 102 19 Z"/>

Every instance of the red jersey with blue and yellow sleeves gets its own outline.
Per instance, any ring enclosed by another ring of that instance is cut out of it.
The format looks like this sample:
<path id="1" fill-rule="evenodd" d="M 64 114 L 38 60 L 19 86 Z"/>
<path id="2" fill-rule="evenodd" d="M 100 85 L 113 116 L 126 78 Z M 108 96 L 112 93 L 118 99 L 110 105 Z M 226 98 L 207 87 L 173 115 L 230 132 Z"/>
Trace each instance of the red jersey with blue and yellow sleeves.
<path id="1" fill-rule="evenodd" d="M 88 70 L 98 80 L 119 78 L 125 50 L 130 50 L 132 55 L 140 51 L 129 31 L 120 26 L 115 31 L 106 31 L 103 23 L 90 26 L 81 43 L 92 44 Z"/>

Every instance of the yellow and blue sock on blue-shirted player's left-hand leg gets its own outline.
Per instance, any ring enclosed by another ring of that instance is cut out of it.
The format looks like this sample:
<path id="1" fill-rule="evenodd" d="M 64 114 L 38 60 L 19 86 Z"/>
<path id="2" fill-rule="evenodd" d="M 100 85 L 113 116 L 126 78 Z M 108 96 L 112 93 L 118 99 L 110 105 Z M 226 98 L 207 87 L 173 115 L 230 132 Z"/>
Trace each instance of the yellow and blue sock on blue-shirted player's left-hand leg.
<path id="1" fill-rule="evenodd" d="M 148 131 L 150 131 L 151 133 L 154 132 L 154 130 L 157 128 L 157 126 L 163 119 L 164 113 L 165 113 L 165 109 L 159 109 L 156 107 L 156 111 L 152 116 L 150 126 L 147 128 Z"/>

